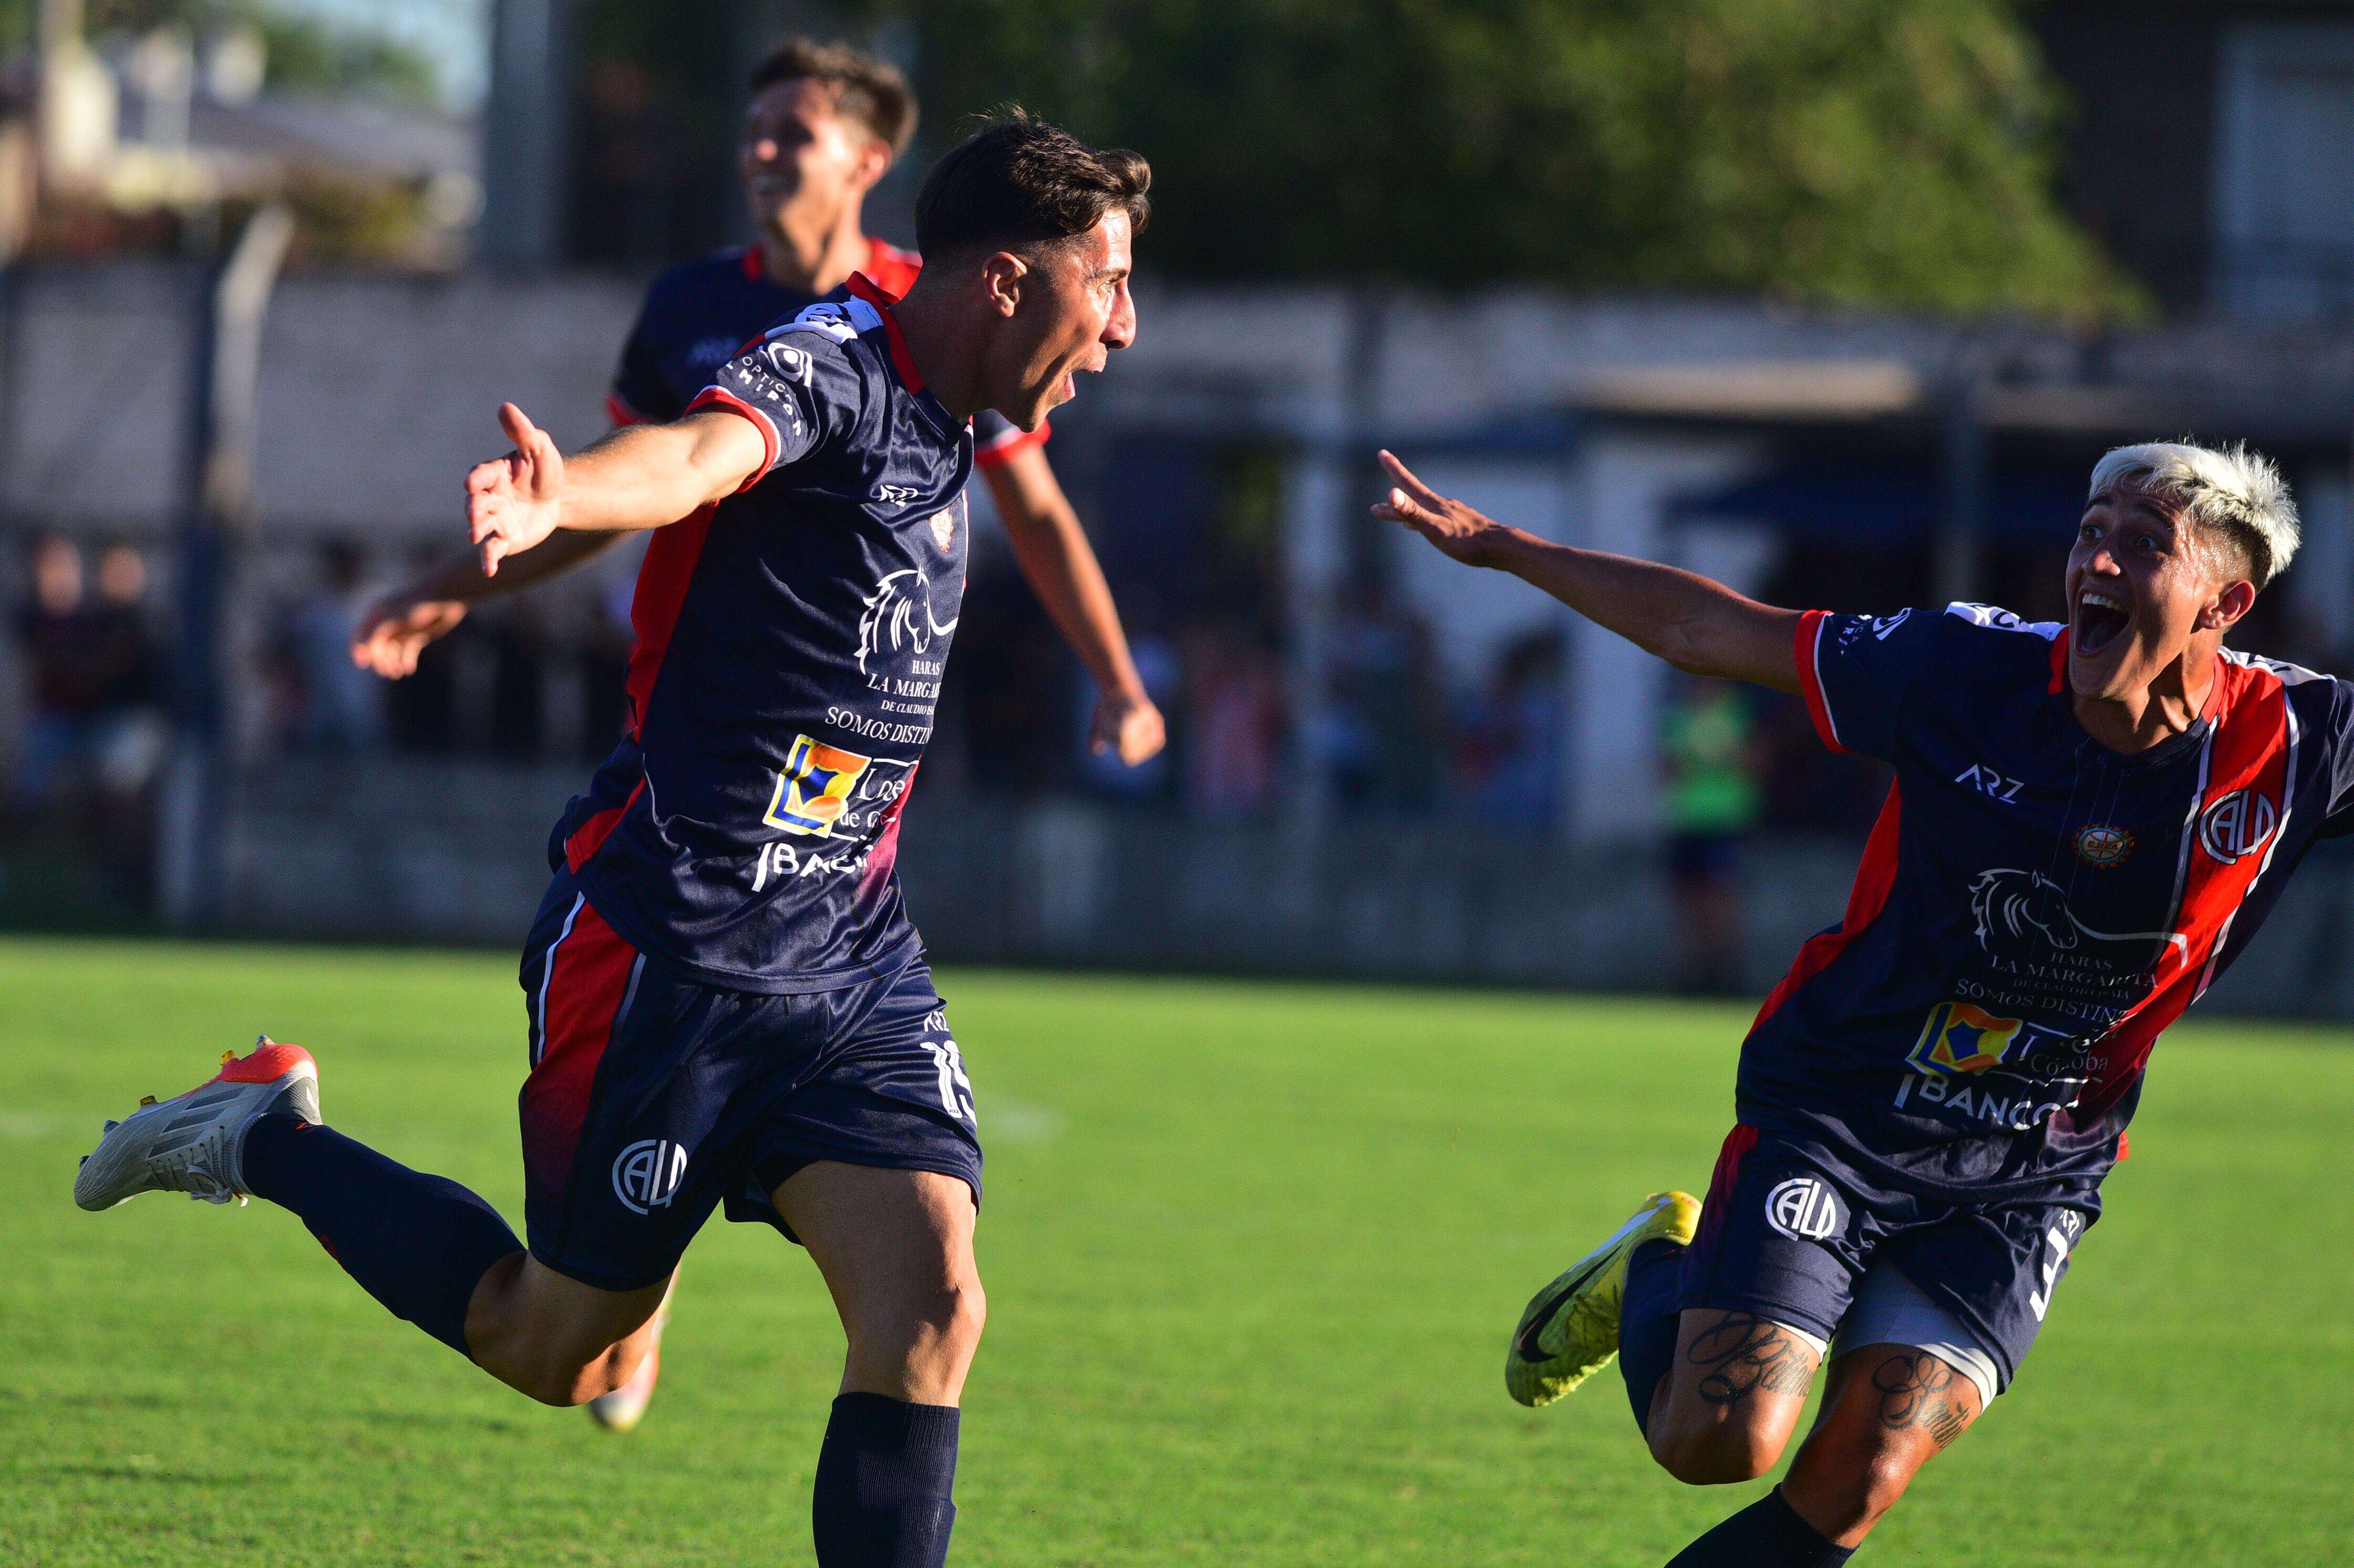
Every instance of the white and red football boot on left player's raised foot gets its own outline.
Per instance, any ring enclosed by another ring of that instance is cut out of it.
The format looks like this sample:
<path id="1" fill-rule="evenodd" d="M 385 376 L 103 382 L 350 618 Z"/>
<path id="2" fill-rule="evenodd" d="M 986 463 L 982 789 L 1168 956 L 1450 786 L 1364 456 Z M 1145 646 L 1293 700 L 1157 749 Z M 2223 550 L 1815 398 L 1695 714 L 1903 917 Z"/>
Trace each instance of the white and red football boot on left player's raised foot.
<path id="1" fill-rule="evenodd" d="M 261 1036 L 250 1055 L 224 1050 L 221 1071 L 186 1095 L 160 1104 L 148 1095 L 127 1118 L 106 1123 L 73 1177 L 73 1201 L 101 1210 L 144 1191 L 184 1191 L 202 1203 L 245 1203 L 245 1135 L 271 1114 L 320 1118 L 318 1062 L 301 1045 Z"/>

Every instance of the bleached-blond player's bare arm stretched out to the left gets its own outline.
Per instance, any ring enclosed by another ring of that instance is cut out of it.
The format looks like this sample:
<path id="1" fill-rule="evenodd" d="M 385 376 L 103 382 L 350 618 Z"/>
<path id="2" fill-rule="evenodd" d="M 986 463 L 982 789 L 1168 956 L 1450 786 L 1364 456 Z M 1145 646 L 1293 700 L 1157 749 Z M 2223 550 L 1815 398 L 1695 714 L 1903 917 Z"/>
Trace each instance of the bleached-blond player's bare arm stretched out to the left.
<path id="1" fill-rule="evenodd" d="M 1464 565 L 1544 589 L 1596 626 L 1695 676 L 1798 690 L 1798 612 L 1742 598 L 1721 582 L 1631 556 L 1577 551 L 1450 501 L 1382 452 L 1396 487 L 1372 516 L 1403 523 Z"/>

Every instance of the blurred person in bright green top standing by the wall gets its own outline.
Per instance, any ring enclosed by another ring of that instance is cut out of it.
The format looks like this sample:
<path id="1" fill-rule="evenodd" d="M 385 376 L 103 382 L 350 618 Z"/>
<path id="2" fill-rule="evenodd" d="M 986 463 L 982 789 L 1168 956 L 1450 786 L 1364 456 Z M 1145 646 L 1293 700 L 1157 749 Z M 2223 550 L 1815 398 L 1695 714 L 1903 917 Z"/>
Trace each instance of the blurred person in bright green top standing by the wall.
<path id="1" fill-rule="evenodd" d="M 1683 984 L 1740 989 L 1742 841 L 1758 819 L 1756 723 L 1733 680 L 1681 683 L 1664 711 L 1669 871 Z"/>

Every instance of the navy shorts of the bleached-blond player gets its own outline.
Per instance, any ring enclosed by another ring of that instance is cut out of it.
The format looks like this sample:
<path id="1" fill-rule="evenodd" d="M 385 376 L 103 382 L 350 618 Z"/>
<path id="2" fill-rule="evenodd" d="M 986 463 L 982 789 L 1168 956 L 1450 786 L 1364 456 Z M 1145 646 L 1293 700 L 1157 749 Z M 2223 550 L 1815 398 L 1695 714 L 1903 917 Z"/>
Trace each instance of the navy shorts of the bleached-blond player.
<path id="1" fill-rule="evenodd" d="M 1895 1264 L 2010 1387 L 2095 1217 L 2060 1203 L 1869 1208 L 1773 1132 L 1737 1125 L 1716 1156 L 1676 1309 L 1751 1311 L 1829 1340 L 1864 1271 Z"/>

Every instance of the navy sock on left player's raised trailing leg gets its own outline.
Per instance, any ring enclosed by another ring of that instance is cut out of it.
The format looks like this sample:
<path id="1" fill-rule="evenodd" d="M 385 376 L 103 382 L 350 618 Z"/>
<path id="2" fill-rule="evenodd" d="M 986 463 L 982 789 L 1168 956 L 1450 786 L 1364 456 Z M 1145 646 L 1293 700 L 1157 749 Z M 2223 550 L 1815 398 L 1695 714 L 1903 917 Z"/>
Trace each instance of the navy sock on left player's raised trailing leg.
<path id="1" fill-rule="evenodd" d="M 245 1135 L 245 1187 L 292 1208 L 395 1318 L 473 1361 L 473 1288 L 490 1264 L 523 1250 L 499 1210 L 447 1177 L 410 1170 L 297 1116 L 264 1118 Z"/>

